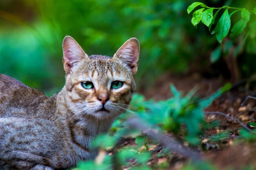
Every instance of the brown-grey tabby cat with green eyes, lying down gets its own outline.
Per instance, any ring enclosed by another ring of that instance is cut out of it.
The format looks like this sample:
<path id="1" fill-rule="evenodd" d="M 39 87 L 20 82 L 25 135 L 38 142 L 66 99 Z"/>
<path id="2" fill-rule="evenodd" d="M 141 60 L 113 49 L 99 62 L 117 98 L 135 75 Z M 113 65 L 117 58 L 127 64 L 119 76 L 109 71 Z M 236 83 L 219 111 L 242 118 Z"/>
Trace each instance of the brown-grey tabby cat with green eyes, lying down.
<path id="1" fill-rule="evenodd" d="M 54 96 L 0 74 L 0 170 L 61 170 L 96 157 L 91 141 L 128 107 L 138 62 L 136 38 L 108 57 L 66 36 L 65 86 Z"/>

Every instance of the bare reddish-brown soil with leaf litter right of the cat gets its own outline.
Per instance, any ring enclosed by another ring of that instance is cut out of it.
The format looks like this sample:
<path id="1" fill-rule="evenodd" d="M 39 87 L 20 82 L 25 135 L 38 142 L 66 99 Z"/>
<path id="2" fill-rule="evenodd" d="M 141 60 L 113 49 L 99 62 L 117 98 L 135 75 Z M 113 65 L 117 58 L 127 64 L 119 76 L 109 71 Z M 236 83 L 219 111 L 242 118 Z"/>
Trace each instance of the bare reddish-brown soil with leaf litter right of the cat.
<path id="1" fill-rule="evenodd" d="M 141 90 L 139 93 L 145 95 L 147 99 L 167 99 L 171 97 L 169 85 L 172 83 L 179 91 L 183 91 L 184 93 L 198 86 L 199 91 L 196 95 L 205 97 L 215 92 L 218 88 L 223 86 L 225 82 L 228 82 L 228 80 L 224 80 L 220 77 L 207 79 L 197 73 L 179 76 L 165 74 L 157 80 L 153 88 L 150 88 L 153 90 Z M 256 121 L 256 112 L 253 110 L 256 108 L 256 100 L 249 99 L 244 106 L 241 106 L 241 103 L 248 95 L 255 95 L 256 93 L 246 89 L 245 85 L 245 82 L 238 82 L 231 91 L 228 91 L 220 98 L 216 99 L 205 111 L 225 113 L 231 118 L 239 119 L 241 121 L 240 123 L 251 128 L 248 123 Z M 202 136 L 202 146 L 195 149 L 200 152 L 203 159 L 211 161 L 220 170 L 226 170 L 229 167 L 238 170 L 248 165 L 254 165 L 256 167 L 256 144 L 238 140 L 239 129 L 241 129 L 242 125 L 231 118 L 219 114 L 206 115 L 205 119 L 207 122 L 219 120 L 220 124 L 215 128 L 205 131 Z M 229 130 L 230 137 L 217 143 L 209 141 L 209 136 L 218 134 L 223 130 Z M 132 144 L 134 140 L 126 141 L 126 143 Z M 173 153 L 171 158 L 167 156 L 160 158 L 155 157 L 154 155 L 156 155 L 156 153 L 162 152 L 161 146 L 153 146 L 153 152 L 153 157 L 148 164 L 153 165 L 167 161 L 169 163 L 167 169 L 170 170 L 179 170 L 187 160 L 177 153 Z"/>

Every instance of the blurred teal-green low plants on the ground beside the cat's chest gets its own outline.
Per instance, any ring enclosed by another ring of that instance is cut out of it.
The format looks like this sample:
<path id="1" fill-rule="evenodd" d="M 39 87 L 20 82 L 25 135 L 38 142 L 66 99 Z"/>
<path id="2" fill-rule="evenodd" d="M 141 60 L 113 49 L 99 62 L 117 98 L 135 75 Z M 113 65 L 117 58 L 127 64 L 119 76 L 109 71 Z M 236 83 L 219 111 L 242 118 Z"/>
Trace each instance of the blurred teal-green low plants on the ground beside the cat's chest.
<path id="1" fill-rule="evenodd" d="M 99 135 L 92 142 L 92 148 L 99 149 L 98 157 L 95 160 L 81 162 L 77 167 L 78 170 L 112 170 L 115 167 L 131 167 L 131 170 L 152 170 L 152 167 L 147 164 L 152 155 L 152 152 L 148 149 L 150 145 L 156 145 L 159 141 L 149 139 L 147 130 L 141 132 L 129 128 L 127 119 L 131 117 L 138 117 L 147 122 L 150 130 L 157 131 L 157 134 L 164 134 L 166 131 L 173 132 L 176 135 L 183 136 L 183 142 L 186 141 L 190 146 L 200 145 L 204 108 L 229 88 L 231 88 L 231 85 L 227 84 L 213 95 L 200 100 L 194 96 L 195 89 L 183 97 L 182 93 L 177 91 L 173 85 L 171 85 L 173 97 L 164 101 L 146 102 L 141 95 L 136 94 L 132 99 L 129 110 L 115 120 L 110 129 L 110 134 Z M 137 101 L 140 101 L 140 105 L 137 104 Z M 135 144 L 116 148 L 121 138 L 135 138 Z M 106 155 L 104 150 L 112 150 L 112 154 Z M 102 156 L 102 152 L 104 156 Z M 172 157 L 168 148 L 159 152 L 157 157 L 165 155 L 168 155 L 169 158 Z M 189 163 L 189 165 L 190 168 L 184 166 L 183 169 L 216 169 L 204 161 L 195 161 Z M 168 168 L 168 162 L 155 165 L 155 168 L 166 169 Z"/>

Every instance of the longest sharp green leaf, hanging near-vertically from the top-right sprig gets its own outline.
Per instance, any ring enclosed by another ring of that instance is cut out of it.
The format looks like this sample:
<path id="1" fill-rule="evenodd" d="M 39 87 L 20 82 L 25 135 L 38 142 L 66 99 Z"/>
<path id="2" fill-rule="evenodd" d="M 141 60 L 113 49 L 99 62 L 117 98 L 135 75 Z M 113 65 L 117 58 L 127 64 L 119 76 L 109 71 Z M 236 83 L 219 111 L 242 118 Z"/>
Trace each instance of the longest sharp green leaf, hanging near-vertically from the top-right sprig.
<path id="1" fill-rule="evenodd" d="M 222 43 L 222 40 L 227 36 L 230 29 L 230 18 L 229 18 L 229 11 L 226 9 L 220 20 L 217 22 L 215 31 L 216 31 L 216 38 L 217 40 Z"/>

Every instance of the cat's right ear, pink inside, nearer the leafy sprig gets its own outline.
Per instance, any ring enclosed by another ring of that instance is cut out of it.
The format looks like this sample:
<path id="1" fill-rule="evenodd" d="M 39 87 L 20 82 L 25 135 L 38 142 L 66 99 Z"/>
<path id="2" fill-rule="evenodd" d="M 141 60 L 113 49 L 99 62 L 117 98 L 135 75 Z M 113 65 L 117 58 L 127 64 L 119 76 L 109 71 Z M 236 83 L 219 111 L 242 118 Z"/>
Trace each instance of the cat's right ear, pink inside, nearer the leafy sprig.
<path id="1" fill-rule="evenodd" d="M 135 75 L 139 64 L 139 41 L 136 38 L 130 38 L 117 50 L 113 58 L 115 57 L 127 64 Z"/>

